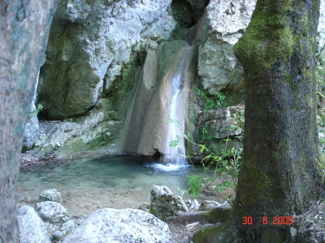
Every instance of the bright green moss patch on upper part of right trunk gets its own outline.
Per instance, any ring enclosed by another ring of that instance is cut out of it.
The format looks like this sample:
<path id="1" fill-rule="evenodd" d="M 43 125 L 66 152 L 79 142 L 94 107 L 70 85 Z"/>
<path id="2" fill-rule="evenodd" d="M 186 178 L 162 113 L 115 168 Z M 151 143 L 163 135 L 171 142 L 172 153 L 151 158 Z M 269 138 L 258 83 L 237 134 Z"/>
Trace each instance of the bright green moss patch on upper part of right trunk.
<path id="1" fill-rule="evenodd" d="M 288 1 L 273 5 L 277 11 L 268 8 L 254 11 L 245 34 L 234 47 L 235 55 L 244 68 L 248 67 L 245 63 L 249 64 L 254 57 L 250 74 L 254 69 L 261 71 L 271 68 L 278 60 L 289 61 L 293 54 L 295 45 L 293 32 L 285 25 L 288 22 L 285 15 L 278 13 L 279 9 L 280 12 L 285 12 L 290 8 Z"/>

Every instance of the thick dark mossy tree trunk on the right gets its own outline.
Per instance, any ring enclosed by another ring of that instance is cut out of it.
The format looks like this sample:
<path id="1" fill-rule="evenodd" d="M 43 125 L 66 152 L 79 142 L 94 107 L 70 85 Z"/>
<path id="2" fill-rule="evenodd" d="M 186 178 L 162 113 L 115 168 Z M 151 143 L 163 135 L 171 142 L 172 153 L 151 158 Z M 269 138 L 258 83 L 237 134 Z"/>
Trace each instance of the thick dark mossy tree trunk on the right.
<path id="1" fill-rule="evenodd" d="M 319 0 L 257 0 L 235 45 L 246 97 L 234 211 L 248 242 L 283 242 L 283 225 L 273 225 L 273 217 L 297 212 L 319 192 L 323 157 L 314 78 L 318 17 Z M 243 225 L 243 217 L 252 217 L 252 224 Z"/>

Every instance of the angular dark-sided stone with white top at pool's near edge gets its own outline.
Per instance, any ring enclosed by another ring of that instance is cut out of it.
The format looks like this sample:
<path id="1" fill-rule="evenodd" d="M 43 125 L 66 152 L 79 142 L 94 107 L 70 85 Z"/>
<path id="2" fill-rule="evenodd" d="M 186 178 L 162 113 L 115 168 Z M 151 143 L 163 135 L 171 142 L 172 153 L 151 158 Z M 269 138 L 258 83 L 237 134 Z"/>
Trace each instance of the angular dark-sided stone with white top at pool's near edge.
<path id="1" fill-rule="evenodd" d="M 175 195 L 167 186 L 153 185 L 150 201 L 150 213 L 163 221 L 188 211 L 183 198 Z"/>

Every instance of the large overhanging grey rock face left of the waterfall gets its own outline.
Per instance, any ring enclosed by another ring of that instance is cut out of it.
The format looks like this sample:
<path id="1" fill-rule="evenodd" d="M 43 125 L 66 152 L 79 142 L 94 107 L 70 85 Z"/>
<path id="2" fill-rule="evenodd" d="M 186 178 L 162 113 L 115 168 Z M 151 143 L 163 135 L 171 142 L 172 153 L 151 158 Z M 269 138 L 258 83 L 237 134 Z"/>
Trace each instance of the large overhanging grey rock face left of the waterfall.
<path id="1" fill-rule="evenodd" d="M 171 0 L 61 1 L 38 87 L 38 102 L 46 103 L 47 117 L 89 111 L 120 74 L 138 39 L 169 37 L 176 25 L 167 11 L 170 4 Z"/>

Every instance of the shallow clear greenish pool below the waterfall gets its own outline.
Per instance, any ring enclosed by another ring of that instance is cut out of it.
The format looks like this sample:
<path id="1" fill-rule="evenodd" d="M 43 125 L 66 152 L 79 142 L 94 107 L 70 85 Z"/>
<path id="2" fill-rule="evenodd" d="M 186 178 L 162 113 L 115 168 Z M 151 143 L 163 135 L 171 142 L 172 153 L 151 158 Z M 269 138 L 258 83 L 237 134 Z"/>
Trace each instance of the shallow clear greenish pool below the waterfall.
<path id="1" fill-rule="evenodd" d="M 139 208 L 150 204 L 152 185 L 166 185 L 180 195 L 178 188 L 187 189 L 186 175 L 191 170 L 129 155 L 91 154 L 69 159 L 21 171 L 16 187 L 17 207 L 34 206 L 42 191 L 55 188 L 61 192 L 62 205 L 70 215 L 89 214 L 100 208 Z M 199 203 L 204 199 L 224 201 L 208 191 L 200 193 Z"/>

